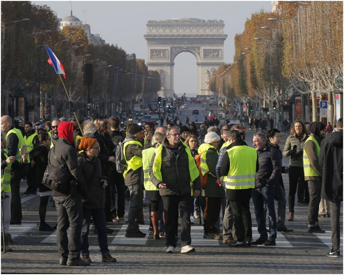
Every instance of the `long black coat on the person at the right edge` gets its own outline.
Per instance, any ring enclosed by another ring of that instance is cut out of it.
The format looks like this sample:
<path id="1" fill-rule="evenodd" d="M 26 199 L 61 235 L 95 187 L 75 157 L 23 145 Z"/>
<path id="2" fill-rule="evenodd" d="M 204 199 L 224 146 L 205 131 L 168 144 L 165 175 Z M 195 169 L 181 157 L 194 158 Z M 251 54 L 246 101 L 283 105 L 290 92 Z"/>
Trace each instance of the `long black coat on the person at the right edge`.
<path id="1" fill-rule="evenodd" d="M 325 135 L 320 147 L 322 167 L 321 197 L 333 202 L 343 200 L 343 130 Z"/>

